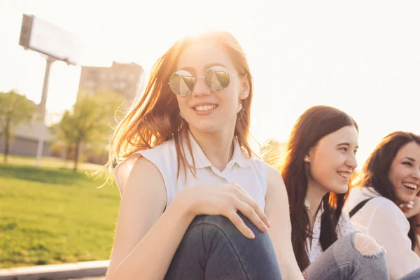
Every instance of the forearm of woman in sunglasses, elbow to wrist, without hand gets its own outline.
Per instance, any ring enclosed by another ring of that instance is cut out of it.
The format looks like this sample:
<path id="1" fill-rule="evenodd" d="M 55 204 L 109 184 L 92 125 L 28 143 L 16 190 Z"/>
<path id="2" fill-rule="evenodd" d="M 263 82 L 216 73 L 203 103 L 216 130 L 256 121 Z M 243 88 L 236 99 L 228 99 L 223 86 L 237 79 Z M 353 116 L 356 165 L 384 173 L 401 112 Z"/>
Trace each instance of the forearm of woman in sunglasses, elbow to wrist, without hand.
<path id="1" fill-rule="evenodd" d="M 194 216 L 178 204 L 169 204 L 137 246 L 120 262 L 106 280 L 165 277 L 172 258 Z"/>

